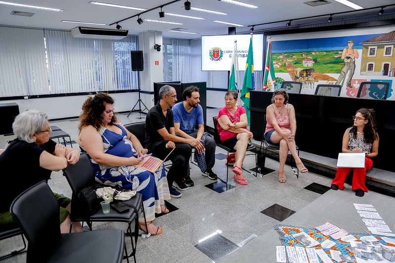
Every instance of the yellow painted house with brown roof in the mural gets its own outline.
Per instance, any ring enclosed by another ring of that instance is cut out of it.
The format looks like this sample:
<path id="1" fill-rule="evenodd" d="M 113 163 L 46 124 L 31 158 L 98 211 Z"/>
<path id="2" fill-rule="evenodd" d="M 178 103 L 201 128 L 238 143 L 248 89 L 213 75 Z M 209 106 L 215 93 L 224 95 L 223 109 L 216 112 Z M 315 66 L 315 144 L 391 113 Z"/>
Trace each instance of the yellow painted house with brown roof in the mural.
<path id="1" fill-rule="evenodd" d="M 395 66 L 395 31 L 368 39 L 361 44 L 360 75 L 388 75 Z"/>

